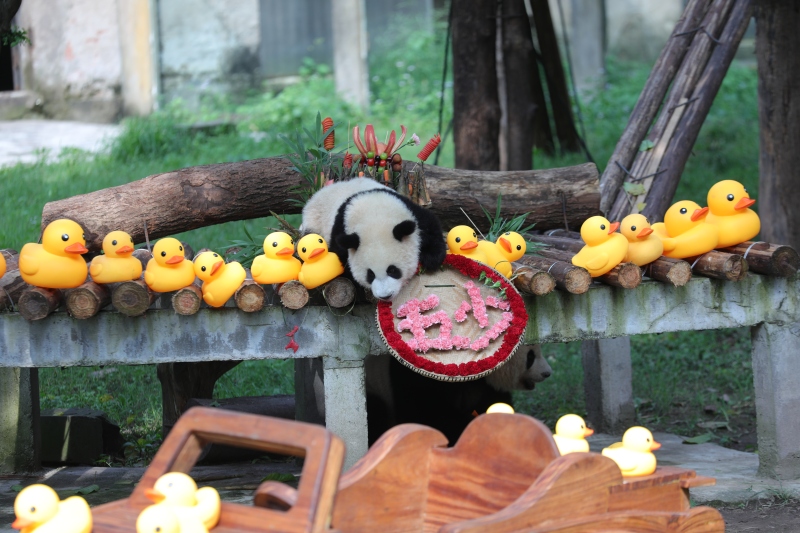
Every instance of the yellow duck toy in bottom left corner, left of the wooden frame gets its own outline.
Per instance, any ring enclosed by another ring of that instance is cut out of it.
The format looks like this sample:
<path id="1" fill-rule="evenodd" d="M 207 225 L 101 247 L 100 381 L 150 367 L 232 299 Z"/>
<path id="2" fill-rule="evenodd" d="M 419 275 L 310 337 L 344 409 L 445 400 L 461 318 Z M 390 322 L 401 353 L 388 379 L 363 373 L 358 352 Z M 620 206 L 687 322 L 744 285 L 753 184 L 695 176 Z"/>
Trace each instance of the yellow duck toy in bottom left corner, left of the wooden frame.
<path id="1" fill-rule="evenodd" d="M 14 500 L 17 519 L 11 524 L 23 533 L 91 533 L 92 512 L 80 496 L 63 501 L 47 485 L 30 485 Z"/>

